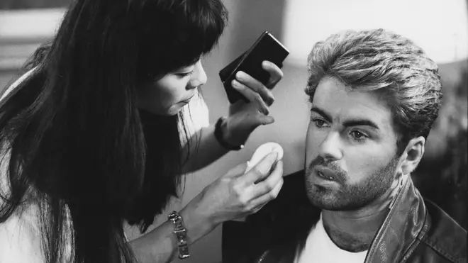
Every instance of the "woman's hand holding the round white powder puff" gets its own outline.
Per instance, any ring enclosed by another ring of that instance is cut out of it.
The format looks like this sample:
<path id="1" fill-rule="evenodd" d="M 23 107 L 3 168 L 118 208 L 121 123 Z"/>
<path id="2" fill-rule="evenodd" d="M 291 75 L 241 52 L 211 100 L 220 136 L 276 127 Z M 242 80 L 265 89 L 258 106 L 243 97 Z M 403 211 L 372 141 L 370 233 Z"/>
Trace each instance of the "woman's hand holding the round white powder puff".
<path id="1" fill-rule="evenodd" d="M 272 152 L 245 173 L 247 164 L 230 169 L 206 186 L 182 211 L 187 230 L 208 233 L 227 220 L 243 218 L 260 210 L 279 194 L 283 185 L 283 162 Z M 191 226 L 190 226 L 191 225 Z"/>

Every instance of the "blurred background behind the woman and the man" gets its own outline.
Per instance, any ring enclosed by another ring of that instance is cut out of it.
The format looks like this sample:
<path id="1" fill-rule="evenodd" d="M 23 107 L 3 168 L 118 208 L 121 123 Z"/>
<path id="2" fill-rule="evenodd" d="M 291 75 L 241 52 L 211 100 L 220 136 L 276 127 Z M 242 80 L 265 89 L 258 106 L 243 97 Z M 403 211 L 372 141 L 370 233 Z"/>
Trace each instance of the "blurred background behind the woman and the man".
<path id="1" fill-rule="evenodd" d="M 0 89 L 18 77 L 18 69 L 41 43 L 53 38 L 72 0 L 0 0 Z M 444 101 L 430 133 L 423 162 L 412 175 L 426 198 L 467 228 L 467 0 L 224 0 L 229 24 L 221 41 L 204 58 L 208 83 L 203 88 L 210 121 L 228 113 L 219 69 L 268 30 L 291 50 L 284 79 L 274 89 L 271 114 L 276 122 L 252 133 L 244 150 L 231 152 L 186 176 L 181 197 L 167 211 L 179 210 L 214 179 L 250 159 L 263 142 L 284 147 L 284 172 L 303 169 L 308 105 L 303 93 L 306 59 L 314 43 L 345 29 L 386 28 L 414 40 L 438 63 Z M 155 225 L 166 220 L 167 212 Z M 129 228 L 130 237 L 138 236 Z M 221 226 L 191 248 L 184 262 L 220 262 Z"/>

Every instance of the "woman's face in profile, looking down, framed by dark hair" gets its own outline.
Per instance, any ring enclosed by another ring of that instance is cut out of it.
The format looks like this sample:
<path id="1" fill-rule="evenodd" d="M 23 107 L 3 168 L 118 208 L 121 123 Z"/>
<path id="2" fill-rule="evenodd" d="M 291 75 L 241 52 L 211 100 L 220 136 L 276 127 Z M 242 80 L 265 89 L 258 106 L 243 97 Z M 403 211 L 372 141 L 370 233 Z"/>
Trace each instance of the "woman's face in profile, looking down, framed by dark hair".
<path id="1" fill-rule="evenodd" d="M 194 65 L 182 67 L 138 87 L 138 107 L 158 115 L 175 115 L 205 83 L 206 74 L 199 60 Z"/>

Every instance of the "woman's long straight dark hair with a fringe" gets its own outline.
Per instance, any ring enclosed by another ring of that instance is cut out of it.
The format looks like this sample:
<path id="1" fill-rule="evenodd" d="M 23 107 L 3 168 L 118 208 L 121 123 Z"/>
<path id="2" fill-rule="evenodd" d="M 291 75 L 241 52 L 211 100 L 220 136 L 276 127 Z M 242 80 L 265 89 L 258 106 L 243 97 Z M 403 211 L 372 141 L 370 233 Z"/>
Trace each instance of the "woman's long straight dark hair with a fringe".
<path id="1" fill-rule="evenodd" d="M 144 232 L 177 195 L 183 162 L 182 120 L 138 109 L 135 89 L 196 62 L 226 20 L 217 0 L 74 1 L 0 103 L 11 156 L 0 223 L 37 202 L 47 262 L 67 257 L 67 238 L 72 262 L 133 262 L 123 221 Z"/>

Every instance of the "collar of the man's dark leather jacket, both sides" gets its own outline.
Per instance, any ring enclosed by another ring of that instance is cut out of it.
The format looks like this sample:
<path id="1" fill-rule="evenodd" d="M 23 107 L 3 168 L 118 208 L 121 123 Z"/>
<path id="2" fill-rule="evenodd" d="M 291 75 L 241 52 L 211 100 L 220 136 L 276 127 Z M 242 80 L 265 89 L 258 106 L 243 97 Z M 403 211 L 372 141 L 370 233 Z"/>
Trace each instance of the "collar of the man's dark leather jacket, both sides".
<path id="1" fill-rule="evenodd" d="M 263 253 L 257 262 L 294 262 L 294 257 L 305 245 L 308 230 L 315 225 L 318 216 L 308 219 L 311 223 L 299 228 L 301 233 L 296 233 L 296 239 Z M 364 262 L 401 262 L 401 259 L 416 247 L 429 226 L 430 218 L 423 197 L 414 186 L 411 177 L 408 177 L 372 240 Z"/>

